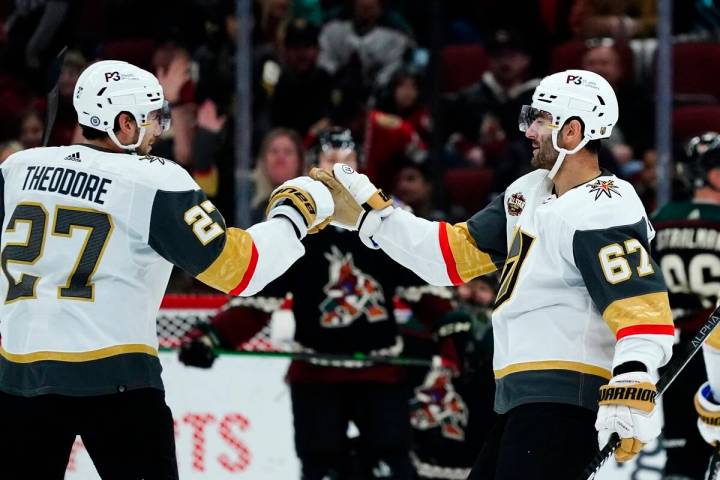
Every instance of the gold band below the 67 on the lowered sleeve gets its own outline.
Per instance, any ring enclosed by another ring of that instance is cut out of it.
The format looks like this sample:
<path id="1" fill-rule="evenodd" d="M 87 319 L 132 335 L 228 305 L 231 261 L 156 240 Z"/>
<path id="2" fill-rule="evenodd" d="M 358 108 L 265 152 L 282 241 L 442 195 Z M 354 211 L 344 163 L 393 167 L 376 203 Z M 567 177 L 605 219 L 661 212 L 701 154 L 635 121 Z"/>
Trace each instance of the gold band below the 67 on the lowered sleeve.
<path id="1" fill-rule="evenodd" d="M 636 325 L 672 326 L 672 312 L 667 292 L 646 293 L 612 302 L 603 318 L 613 332 Z"/>

